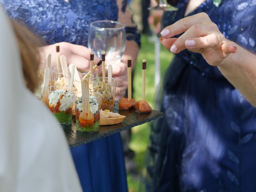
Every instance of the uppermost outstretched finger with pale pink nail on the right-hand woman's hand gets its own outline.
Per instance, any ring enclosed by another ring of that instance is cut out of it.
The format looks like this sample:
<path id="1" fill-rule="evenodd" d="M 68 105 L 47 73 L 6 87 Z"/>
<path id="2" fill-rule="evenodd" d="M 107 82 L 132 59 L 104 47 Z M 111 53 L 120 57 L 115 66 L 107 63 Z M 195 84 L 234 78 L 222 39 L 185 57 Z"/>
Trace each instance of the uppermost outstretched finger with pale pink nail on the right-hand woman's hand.
<path id="1" fill-rule="evenodd" d="M 175 35 L 186 32 L 186 30 L 194 25 L 204 24 L 208 22 L 211 22 L 211 20 L 206 13 L 198 13 L 178 20 L 174 24 L 164 28 L 162 32 L 160 32 L 160 34 L 164 38 L 171 38 Z"/>

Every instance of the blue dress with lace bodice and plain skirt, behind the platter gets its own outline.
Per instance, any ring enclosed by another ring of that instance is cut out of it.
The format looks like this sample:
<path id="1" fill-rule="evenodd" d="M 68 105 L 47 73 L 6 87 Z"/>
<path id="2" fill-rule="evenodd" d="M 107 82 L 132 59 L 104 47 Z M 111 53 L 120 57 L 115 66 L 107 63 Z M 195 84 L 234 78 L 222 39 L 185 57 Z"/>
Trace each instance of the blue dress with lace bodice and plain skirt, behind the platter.
<path id="1" fill-rule="evenodd" d="M 69 3 L 64 0 L 0 0 L 0 3 L 11 18 L 26 24 L 47 44 L 65 41 L 87 46 L 92 21 L 118 19 L 116 0 L 69 0 Z M 125 0 L 122 11 L 126 5 Z M 139 43 L 136 28 L 126 28 L 126 33 L 128 40 Z M 127 191 L 120 134 L 73 148 L 71 152 L 84 191 Z"/>

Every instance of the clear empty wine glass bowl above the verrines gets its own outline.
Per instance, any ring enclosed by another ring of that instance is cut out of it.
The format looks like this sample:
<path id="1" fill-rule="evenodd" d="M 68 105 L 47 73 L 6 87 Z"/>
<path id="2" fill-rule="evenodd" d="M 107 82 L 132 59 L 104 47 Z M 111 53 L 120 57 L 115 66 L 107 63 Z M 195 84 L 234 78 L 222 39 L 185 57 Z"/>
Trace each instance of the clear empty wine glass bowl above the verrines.
<path id="1" fill-rule="evenodd" d="M 106 64 L 121 61 L 125 50 L 126 32 L 124 24 L 110 20 L 94 21 L 90 24 L 88 47 L 101 58 L 106 53 Z"/>

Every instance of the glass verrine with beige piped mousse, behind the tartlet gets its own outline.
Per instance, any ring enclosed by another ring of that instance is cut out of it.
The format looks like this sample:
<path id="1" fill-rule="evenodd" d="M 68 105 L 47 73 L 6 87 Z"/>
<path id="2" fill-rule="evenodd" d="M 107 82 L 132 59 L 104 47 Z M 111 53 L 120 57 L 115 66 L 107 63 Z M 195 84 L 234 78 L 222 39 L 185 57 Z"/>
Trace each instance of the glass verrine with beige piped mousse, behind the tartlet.
<path id="1" fill-rule="evenodd" d="M 106 77 L 106 82 L 103 82 L 102 77 L 97 77 L 92 79 L 92 87 L 95 92 L 102 94 L 102 110 L 114 110 L 115 95 L 116 95 L 116 82 L 115 78 L 112 78 L 112 82 L 108 81 Z"/>

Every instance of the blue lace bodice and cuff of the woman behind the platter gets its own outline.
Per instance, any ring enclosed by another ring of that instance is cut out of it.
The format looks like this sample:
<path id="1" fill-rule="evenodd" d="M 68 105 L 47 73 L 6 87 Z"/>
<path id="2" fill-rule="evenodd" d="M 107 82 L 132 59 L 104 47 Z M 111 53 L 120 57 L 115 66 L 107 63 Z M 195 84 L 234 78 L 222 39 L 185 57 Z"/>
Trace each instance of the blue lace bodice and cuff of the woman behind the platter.
<path id="1" fill-rule="evenodd" d="M 70 42 L 87 46 L 90 23 L 96 20 L 118 18 L 116 0 L 0 0 L 11 18 L 23 22 L 36 35 L 46 40 L 46 44 Z M 125 11 L 127 0 L 122 2 Z M 140 35 L 134 32 L 127 39 L 140 45 Z"/>

